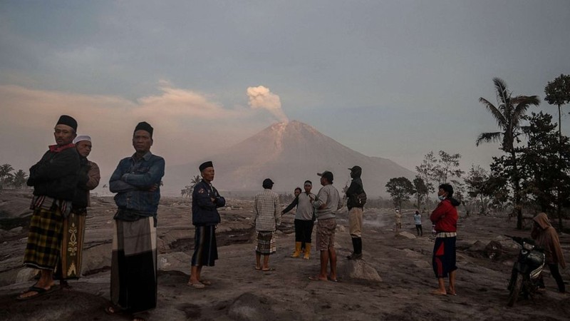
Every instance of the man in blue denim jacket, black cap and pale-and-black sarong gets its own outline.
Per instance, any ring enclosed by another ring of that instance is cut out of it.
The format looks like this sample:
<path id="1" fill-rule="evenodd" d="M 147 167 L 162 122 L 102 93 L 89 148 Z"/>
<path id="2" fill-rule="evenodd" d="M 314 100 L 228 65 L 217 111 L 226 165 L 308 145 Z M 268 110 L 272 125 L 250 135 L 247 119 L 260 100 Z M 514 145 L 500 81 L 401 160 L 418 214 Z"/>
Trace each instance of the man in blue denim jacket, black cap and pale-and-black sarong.
<path id="1" fill-rule="evenodd" d="M 156 307 L 156 225 L 165 160 L 150 153 L 153 128 L 143 121 L 133 133 L 133 156 L 123 158 L 109 180 L 118 210 L 113 217 L 111 302 L 106 312 L 136 313 Z"/>

